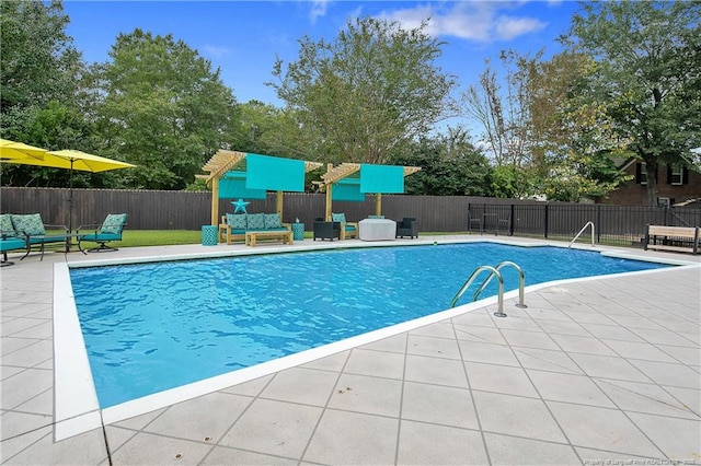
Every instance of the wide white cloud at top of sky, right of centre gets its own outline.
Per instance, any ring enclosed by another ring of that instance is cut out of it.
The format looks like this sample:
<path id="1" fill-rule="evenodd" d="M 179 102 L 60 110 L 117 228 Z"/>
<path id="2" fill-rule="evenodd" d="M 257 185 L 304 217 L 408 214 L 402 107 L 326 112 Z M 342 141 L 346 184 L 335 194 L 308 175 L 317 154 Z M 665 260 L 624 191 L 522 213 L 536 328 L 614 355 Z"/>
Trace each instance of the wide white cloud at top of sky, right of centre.
<path id="1" fill-rule="evenodd" d="M 439 2 L 411 9 L 386 11 L 381 14 L 405 28 L 418 27 L 428 20 L 426 33 L 492 43 L 510 40 L 543 30 L 548 24 L 536 18 L 516 16 L 517 4 L 512 2 Z M 502 14 L 509 10 L 510 15 Z"/>

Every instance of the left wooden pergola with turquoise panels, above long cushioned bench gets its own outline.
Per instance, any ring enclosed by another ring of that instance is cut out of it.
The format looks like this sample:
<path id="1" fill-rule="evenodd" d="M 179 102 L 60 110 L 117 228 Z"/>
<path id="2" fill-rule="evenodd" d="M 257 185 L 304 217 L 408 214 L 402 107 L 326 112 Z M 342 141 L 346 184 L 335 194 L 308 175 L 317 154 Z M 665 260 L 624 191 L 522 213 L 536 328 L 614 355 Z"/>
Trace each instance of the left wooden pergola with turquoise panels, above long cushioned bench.
<path id="1" fill-rule="evenodd" d="M 220 149 L 203 166 L 207 175 L 197 175 L 211 188 L 211 224 L 219 223 L 219 199 L 245 197 L 265 199 L 277 191 L 276 211 L 283 218 L 283 193 L 304 190 L 304 174 L 321 167 L 307 162 Z"/>

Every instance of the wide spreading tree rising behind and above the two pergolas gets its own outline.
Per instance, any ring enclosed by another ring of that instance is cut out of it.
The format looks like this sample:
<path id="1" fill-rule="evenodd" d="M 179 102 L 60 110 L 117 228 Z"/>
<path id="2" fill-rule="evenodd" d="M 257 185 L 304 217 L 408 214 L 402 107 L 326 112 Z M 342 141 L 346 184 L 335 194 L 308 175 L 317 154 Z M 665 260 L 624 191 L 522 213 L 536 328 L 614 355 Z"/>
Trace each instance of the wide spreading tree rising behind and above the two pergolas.
<path id="1" fill-rule="evenodd" d="M 383 163 L 444 115 L 453 78 L 435 60 L 441 43 L 421 27 L 358 19 L 334 42 L 299 40 L 299 59 L 277 60 L 272 85 L 317 141 L 310 159 Z"/>

